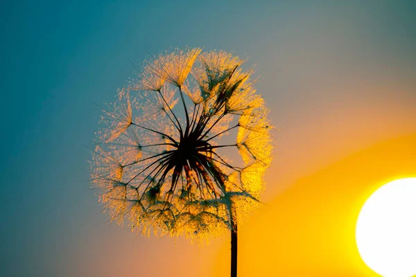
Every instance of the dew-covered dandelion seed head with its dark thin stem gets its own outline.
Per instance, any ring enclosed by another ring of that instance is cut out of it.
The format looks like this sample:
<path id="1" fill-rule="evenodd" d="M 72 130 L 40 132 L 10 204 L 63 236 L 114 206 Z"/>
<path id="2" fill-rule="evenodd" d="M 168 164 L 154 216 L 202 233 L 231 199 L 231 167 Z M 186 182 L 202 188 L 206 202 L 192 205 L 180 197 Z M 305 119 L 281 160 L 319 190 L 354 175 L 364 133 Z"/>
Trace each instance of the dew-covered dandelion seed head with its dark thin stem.
<path id="1" fill-rule="evenodd" d="M 232 276 L 237 226 L 259 206 L 272 151 L 268 109 L 242 63 L 199 48 L 145 61 L 103 108 L 91 161 L 110 220 L 198 242 L 231 231 Z"/>

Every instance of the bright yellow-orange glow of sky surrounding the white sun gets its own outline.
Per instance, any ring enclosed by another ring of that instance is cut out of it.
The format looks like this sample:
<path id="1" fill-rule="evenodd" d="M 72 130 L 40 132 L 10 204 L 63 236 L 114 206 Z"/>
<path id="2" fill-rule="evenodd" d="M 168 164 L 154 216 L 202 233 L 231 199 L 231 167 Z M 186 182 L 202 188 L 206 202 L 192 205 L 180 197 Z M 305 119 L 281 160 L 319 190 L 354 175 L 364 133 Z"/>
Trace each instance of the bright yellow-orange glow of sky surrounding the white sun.
<path id="1" fill-rule="evenodd" d="M 355 222 L 376 188 L 416 176 L 415 157 L 416 133 L 377 143 L 297 179 L 241 229 L 239 276 L 378 276 L 358 254 Z M 228 251 L 223 247 L 218 259 Z M 219 268 L 216 276 L 226 276 L 220 274 L 226 270 Z"/>

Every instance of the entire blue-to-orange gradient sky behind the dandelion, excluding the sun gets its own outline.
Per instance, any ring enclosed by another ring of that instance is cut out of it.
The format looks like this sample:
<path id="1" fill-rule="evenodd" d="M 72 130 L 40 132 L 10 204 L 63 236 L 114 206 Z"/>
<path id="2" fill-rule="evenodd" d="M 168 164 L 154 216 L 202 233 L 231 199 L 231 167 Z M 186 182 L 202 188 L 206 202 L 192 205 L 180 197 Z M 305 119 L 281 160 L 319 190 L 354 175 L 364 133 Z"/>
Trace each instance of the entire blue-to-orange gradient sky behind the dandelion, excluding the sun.
<path id="1" fill-rule="evenodd" d="M 247 57 L 279 128 L 266 205 L 239 227 L 239 275 L 377 276 L 354 222 L 383 182 L 416 176 L 415 12 L 414 1 L 3 3 L 0 275 L 229 275 L 229 237 L 196 247 L 110 224 L 85 172 L 96 104 L 132 77 L 130 60 L 190 46 Z"/>

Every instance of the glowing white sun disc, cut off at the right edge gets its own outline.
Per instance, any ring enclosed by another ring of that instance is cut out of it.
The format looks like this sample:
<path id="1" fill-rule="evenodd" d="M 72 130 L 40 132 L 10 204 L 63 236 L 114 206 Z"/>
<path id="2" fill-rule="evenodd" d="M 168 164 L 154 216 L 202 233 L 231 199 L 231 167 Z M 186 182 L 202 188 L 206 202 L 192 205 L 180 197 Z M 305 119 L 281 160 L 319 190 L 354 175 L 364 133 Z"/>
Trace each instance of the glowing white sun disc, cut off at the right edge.
<path id="1" fill-rule="evenodd" d="M 358 215 L 356 244 L 377 274 L 416 274 L 416 178 L 391 181 L 367 199 Z"/>

